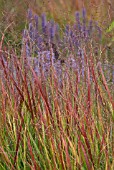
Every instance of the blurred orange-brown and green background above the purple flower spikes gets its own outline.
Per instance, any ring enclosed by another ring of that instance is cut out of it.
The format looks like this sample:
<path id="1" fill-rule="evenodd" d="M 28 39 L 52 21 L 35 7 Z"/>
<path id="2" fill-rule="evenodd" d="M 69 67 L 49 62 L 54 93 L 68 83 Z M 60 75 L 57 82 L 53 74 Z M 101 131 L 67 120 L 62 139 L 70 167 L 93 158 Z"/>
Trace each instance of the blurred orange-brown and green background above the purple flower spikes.
<path id="1" fill-rule="evenodd" d="M 54 18 L 64 26 L 65 23 L 72 24 L 75 11 L 81 11 L 83 7 L 87 10 L 87 17 L 99 22 L 104 30 L 114 20 L 114 0 L 0 0 L 0 33 L 10 25 L 6 41 L 19 41 L 28 8 L 38 15 L 45 12 L 48 18 Z"/>

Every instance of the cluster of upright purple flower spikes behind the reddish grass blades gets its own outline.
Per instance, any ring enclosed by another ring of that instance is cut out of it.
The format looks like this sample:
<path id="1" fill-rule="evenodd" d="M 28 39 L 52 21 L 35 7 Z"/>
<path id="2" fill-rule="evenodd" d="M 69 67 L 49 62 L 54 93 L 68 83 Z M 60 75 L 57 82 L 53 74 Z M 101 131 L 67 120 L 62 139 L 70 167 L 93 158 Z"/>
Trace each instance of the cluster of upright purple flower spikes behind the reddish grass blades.
<path id="1" fill-rule="evenodd" d="M 86 10 L 76 12 L 74 25 L 66 25 L 60 37 L 59 25 L 48 21 L 45 13 L 41 17 L 28 10 L 28 25 L 23 31 L 22 52 L 26 52 L 34 71 L 40 74 L 41 68 L 47 75 L 53 66 L 57 73 L 63 65 L 77 69 L 83 76 L 85 70 L 84 52 L 89 51 L 90 43 L 95 46 L 101 40 L 101 29 L 97 23 L 88 21 Z M 60 76 L 58 74 L 58 76 Z"/>

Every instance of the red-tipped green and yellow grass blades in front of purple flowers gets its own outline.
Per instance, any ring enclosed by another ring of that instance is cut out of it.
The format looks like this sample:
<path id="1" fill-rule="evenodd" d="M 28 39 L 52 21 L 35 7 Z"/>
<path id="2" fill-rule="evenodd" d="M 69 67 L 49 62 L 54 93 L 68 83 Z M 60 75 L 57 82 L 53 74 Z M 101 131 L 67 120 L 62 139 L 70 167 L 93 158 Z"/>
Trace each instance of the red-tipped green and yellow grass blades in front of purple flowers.
<path id="1" fill-rule="evenodd" d="M 0 169 L 113 169 L 113 99 L 101 64 L 84 76 L 53 65 L 45 79 L 27 57 L 0 59 Z"/>

